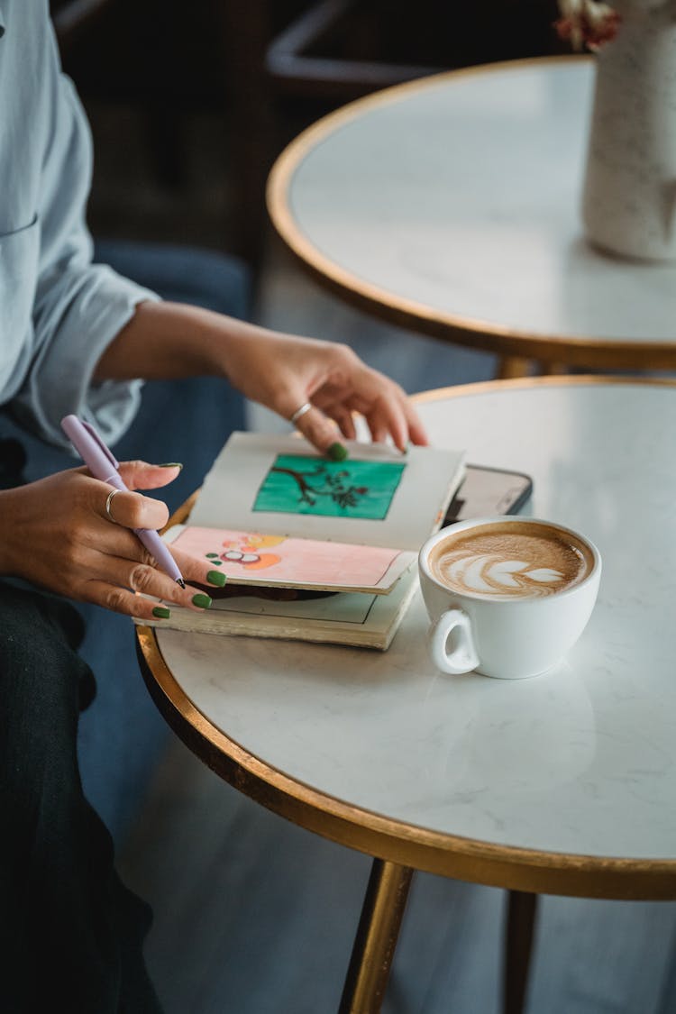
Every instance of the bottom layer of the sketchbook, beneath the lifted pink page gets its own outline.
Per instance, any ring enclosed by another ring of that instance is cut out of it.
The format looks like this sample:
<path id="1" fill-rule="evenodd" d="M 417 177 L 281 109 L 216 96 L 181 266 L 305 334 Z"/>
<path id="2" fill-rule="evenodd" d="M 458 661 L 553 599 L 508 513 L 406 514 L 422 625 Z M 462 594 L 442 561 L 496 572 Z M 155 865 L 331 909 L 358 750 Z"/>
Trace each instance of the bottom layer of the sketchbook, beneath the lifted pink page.
<path id="1" fill-rule="evenodd" d="M 202 612 L 172 604 L 166 620 L 134 622 L 164 630 L 345 644 L 384 651 L 417 588 L 418 569 L 411 564 L 389 595 L 340 592 L 291 602 L 241 595 L 217 599 Z"/>

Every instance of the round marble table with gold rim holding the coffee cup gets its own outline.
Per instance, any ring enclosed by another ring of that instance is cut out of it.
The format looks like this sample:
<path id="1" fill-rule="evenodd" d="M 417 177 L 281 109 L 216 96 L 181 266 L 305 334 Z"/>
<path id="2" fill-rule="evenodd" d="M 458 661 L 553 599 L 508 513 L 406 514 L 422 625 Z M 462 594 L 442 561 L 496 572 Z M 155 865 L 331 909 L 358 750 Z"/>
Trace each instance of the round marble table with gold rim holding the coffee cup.
<path id="1" fill-rule="evenodd" d="M 382 909 L 400 918 L 412 868 L 676 898 L 676 385 L 492 381 L 419 407 L 434 444 L 528 473 L 528 512 L 599 547 L 569 657 L 526 680 L 443 675 L 418 597 L 382 653 L 139 628 L 155 701 L 241 791 L 377 857 L 362 958 L 393 948 Z M 356 995 L 342 1010 L 379 1009 Z"/>

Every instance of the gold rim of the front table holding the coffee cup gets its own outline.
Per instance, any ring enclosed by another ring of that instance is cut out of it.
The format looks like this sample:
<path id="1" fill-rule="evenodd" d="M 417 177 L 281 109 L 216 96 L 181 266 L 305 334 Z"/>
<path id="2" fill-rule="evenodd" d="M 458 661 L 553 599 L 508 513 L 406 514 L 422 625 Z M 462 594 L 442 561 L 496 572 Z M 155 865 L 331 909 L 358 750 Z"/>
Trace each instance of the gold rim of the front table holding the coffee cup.
<path id="1" fill-rule="evenodd" d="M 592 384 L 676 388 L 676 380 L 656 377 L 525 377 L 436 388 L 412 401 Z M 169 526 L 184 520 L 196 497 L 179 508 Z M 144 679 L 174 732 L 244 795 L 308 830 L 385 861 L 489 886 L 579 897 L 676 899 L 676 858 L 599 857 L 495 845 L 394 820 L 291 778 L 247 751 L 195 707 L 166 665 L 154 628 L 139 626 L 136 635 Z"/>

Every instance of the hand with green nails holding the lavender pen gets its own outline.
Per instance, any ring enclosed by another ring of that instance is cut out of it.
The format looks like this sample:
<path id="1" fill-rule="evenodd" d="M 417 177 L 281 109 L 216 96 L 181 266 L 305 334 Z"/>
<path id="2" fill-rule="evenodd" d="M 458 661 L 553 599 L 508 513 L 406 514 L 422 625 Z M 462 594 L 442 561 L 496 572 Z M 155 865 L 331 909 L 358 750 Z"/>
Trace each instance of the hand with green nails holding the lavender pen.
<path id="1" fill-rule="evenodd" d="M 165 486 L 178 469 L 127 461 L 120 475 L 132 491 Z M 157 615 L 157 603 L 137 591 L 187 608 L 211 604 L 204 592 L 180 588 L 160 570 L 129 530 L 163 527 L 166 504 L 140 493 L 118 493 L 110 506 L 114 522 L 105 512 L 110 489 L 86 468 L 72 468 L 0 493 L 0 573 L 143 620 Z M 177 551 L 173 556 L 185 581 L 225 583 L 209 562 Z"/>

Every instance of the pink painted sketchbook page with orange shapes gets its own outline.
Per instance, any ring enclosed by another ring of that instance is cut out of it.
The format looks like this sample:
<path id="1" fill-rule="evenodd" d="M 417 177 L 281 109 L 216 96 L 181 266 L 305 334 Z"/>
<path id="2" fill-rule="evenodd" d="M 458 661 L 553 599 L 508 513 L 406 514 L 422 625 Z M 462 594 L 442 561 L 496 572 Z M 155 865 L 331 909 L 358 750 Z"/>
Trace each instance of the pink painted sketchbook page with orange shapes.
<path id="1" fill-rule="evenodd" d="M 373 546 L 178 525 L 165 541 L 210 560 L 230 584 L 387 594 L 416 554 Z"/>

